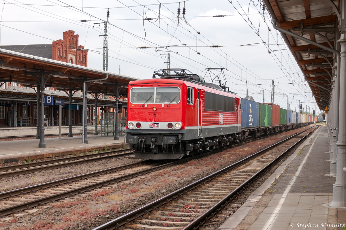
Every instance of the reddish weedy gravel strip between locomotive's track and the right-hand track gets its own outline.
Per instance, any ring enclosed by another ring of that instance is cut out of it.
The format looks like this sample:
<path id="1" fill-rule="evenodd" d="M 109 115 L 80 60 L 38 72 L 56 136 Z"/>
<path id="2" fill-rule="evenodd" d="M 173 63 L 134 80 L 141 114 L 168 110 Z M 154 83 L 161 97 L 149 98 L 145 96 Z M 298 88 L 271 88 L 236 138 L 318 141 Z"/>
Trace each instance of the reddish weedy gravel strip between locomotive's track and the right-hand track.
<path id="1" fill-rule="evenodd" d="M 201 178 L 219 170 L 231 163 L 238 161 L 254 152 L 266 148 L 277 139 L 285 139 L 286 132 L 280 135 L 268 137 L 265 140 L 255 141 L 240 147 L 227 149 L 220 153 L 202 159 L 191 160 L 185 164 L 141 176 L 132 181 L 121 182 L 106 188 L 94 190 L 83 197 L 69 198 L 68 200 L 52 202 L 52 208 L 40 210 L 38 213 L 20 217 L 26 223 L 25 226 L 15 222 L 1 223 L 2 226 L 9 224 L 14 230 L 29 229 L 92 229 L 101 223 L 105 223 L 121 214 L 132 211 L 149 203 L 158 196 L 168 194 L 173 190 L 191 183 L 198 177 Z M 105 146 L 105 150 L 107 146 Z M 198 176 L 197 176 L 198 175 Z M 154 195 L 153 195 L 154 194 Z M 184 204 L 181 212 L 199 212 L 199 204 Z M 172 219 L 174 213 L 168 213 L 165 220 L 180 222 Z M 102 220 L 101 222 L 99 220 Z M 162 220 L 162 221 L 165 221 Z M 0 225 L 1 226 L 1 225 Z"/>

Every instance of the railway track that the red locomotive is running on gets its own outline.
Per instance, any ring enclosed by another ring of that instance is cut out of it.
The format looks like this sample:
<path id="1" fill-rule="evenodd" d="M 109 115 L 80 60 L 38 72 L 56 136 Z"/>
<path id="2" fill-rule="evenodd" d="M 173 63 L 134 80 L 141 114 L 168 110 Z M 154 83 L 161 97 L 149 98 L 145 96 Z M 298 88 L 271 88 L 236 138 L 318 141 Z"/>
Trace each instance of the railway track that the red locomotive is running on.
<path id="1" fill-rule="evenodd" d="M 251 142 L 251 141 L 247 141 Z M 246 142 L 243 142 L 243 145 Z M 238 145 L 235 145 L 238 146 Z M 232 147 L 235 147 L 232 146 Z M 218 150 L 215 150 L 218 151 Z M 181 164 L 191 159 L 204 157 L 213 154 L 215 151 L 209 151 L 198 156 L 185 158 L 171 163 L 157 165 L 149 160 L 114 168 L 104 169 L 97 172 L 69 177 L 57 181 L 47 182 L 39 185 L 19 188 L 0 193 L 0 216 L 16 213 L 21 210 L 31 209 L 37 205 L 42 205 L 51 201 L 59 200 L 71 195 L 90 191 L 95 188 L 114 184 L 122 180 L 127 180 L 136 176 L 141 176 L 165 167 Z M 104 153 L 103 153 L 104 154 Z M 114 155 L 119 156 L 120 154 Z M 88 155 L 89 156 L 89 155 Z M 107 157 L 112 157 L 107 156 Z M 96 158 L 99 159 L 99 158 Z M 61 159 L 60 159 L 61 160 Z M 88 159 L 88 160 L 95 160 Z M 76 164 L 69 160 L 68 164 Z M 146 164 L 146 165 L 144 165 Z M 66 166 L 66 165 L 64 165 Z M 52 166 L 48 166 L 52 167 Z M 41 168 L 42 169 L 42 168 Z M 22 173 L 22 172 L 21 172 Z"/>

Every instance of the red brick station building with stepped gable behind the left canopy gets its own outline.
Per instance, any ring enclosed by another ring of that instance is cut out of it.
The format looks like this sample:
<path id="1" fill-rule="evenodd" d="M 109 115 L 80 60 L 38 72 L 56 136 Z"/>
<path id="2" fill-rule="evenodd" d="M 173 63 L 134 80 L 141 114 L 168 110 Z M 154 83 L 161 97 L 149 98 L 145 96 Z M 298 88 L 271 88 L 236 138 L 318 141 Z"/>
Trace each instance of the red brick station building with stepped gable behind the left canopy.
<path id="1" fill-rule="evenodd" d="M 0 46 L 2 49 L 7 49 L 19 53 L 25 53 L 29 55 L 34 55 L 38 57 L 44 57 L 48 59 L 53 59 L 61 62 L 67 62 L 75 65 L 81 65 L 88 67 L 88 50 L 84 50 L 84 46 L 79 45 L 79 35 L 74 34 L 73 30 L 68 30 L 63 32 L 63 39 L 56 40 L 52 44 L 34 44 L 34 45 L 7 45 Z M 6 91 L 6 93 L 18 94 L 35 94 L 34 90 L 31 88 L 26 88 L 16 82 L 6 82 L 1 85 L 0 82 L 0 93 Z M 53 87 L 47 87 L 46 92 L 48 94 L 65 94 L 64 92 L 56 91 Z M 35 94 L 36 95 L 36 94 Z M 78 91 L 75 95 L 82 97 L 82 91 Z M 66 94 L 67 96 L 67 94 Z M 68 96 L 67 96 L 68 97 Z M 100 99 L 105 100 L 114 100 L 112 96 L 101 95 Z M 18 101 L 17 104 L 17 120 L 22 120 L 22 118 L 31 118 L 30 123 L 26 122 L 25 125 L 35 126 L 36 123 L 36 104 L 33 106 L 27 106 L 25 101 Z M 57 118 L 57 112 L 55 108 L 52 110 L 52 105 L 45 105 L 45 118 L 49 122 L 47 125 L 51 125 L 52 117 Z M 13 111 L 13 103 L 8 104 L 4 101 L 0 101 L 0 127 L 11 125 L 8 121 L 9 115 L 8 111 Z M 90 112 L 89 112 L 90 111 Z M 114 108 L 110 108 L 109 112 L 115 111 Z M 88 106 L 88 124 L 92 123 L 93 118 L 99 120 L 98 115 L 100 114 L 100 107 L 90 107 Z M 124 117 L 125 112 L 120 115 Z M 67 119 L 67 110 L 66 114 L 63 113 L 63 119 Z M 65 120 L 67 124 L 67 120 Z M 81 124 L 81 107 L 79 109 L 74 109 L 72 111 L 72 124 L 79 125 Z M 18 126 L 21 126 L 20 123 Z"/>

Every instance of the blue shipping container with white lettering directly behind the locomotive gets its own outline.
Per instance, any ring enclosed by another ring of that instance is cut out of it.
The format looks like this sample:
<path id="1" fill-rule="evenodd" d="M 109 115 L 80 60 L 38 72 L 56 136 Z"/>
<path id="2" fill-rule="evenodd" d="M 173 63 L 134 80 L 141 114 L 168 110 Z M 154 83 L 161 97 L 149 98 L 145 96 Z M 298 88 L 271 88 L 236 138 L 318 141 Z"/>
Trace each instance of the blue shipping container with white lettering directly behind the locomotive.
<path id="1" fill-rule="evenodd" d="M 242 129 L 258 128 L 258 102 L 242 98 Z"/>

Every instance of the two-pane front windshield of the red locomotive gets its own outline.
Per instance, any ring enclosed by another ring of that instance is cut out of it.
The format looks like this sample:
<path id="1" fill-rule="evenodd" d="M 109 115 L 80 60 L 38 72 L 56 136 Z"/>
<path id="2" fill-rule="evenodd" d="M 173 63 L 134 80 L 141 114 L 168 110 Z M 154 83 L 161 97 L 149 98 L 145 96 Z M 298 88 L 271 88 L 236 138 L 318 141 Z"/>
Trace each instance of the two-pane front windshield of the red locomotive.
<path id="1" fill-rule="evenodd" d="M 130 92 L 131 103 L 179 103 L 178 87 L 134 87 Z"/>

